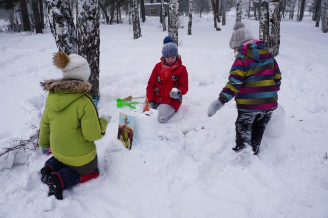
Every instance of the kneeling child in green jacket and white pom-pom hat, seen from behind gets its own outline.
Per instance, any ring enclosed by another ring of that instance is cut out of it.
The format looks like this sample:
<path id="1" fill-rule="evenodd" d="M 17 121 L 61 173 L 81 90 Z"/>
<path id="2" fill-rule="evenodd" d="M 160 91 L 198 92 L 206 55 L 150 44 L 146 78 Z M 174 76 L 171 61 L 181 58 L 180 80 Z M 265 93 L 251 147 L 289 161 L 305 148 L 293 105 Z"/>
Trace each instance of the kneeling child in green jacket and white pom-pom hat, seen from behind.
<path id="1" fill-rule="evenodd" d="M 41 83 L 49 94 L 40 123 L 40 151 L 51 148 L 53 154 L 41 169 L 41 181 L 49 186 L 49 196 L 63 199 L 63 189 L 99 175 L 94 141 L 105 134 L 110 116 L 98 118 L 86 59 L 58 52 L 54 64 L 62 79 Z"/>

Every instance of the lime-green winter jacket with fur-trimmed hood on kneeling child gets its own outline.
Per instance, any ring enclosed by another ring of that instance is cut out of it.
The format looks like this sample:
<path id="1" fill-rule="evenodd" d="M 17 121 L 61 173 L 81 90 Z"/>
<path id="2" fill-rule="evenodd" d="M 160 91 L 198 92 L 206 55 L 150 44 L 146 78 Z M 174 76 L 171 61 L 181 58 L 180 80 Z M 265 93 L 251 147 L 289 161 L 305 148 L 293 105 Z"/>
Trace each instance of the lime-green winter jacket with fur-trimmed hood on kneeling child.
<path id="1" fill-rule="evenodd" d="M 41 86 L 49 94 L 40 123 L 40 147 L 50 147 L 53 156 L 67 165 L 89 163 L 96 155 L 93 141 L 102 138 L 107 127 L 88 94 L 90 83 L 48 80 Z"/>

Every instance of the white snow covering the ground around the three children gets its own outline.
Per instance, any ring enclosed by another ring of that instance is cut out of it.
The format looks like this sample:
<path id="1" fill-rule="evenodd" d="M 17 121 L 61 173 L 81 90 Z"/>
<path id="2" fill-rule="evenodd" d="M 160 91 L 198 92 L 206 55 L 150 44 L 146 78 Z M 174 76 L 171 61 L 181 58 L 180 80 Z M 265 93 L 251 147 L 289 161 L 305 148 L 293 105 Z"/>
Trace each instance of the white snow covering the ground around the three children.
<path id="1" fill-rule="evenodd" d="M 181 20 L 187 27 L 188 19 Z M 113 118 L 96 141 L 100 176 L 64 190 L 64 199 L 57 200 L 40 180 L 49 156 L 22 151 L 2 157 L 0 217 L 328 217 L 327 35 L 310 17 L 281 21 L 276 60 L 286 129 L 275 138 L 264 136 L 258 156 L 236 164 L 234 101 L 207 117 L 234 61 L 229 39 L 235 18 L 228 16 L 220 32 L 212 21 L 210 15 L 193 16 L 192 36 L 179 29 L 189 91 L 165 124 L 154 122 L 156 113 L 136 115 L 136 131 L 145 131 L 136 133 L 131 150 L 116 137 L 119 113 L 134 112 L 118 108 L 116 99 L 145 96 L 167 32 L 156 17 L 141 23 L 138 40 L 127 21 L 101 25 L 98 110 Z M 258 36 L 257 21 L 242 22 Z M 39 82 L 61 77 L 52 64 L 56 51 L 50 32 L 0 33 L 2 148 L 39 127 L 47 96 Z"/>

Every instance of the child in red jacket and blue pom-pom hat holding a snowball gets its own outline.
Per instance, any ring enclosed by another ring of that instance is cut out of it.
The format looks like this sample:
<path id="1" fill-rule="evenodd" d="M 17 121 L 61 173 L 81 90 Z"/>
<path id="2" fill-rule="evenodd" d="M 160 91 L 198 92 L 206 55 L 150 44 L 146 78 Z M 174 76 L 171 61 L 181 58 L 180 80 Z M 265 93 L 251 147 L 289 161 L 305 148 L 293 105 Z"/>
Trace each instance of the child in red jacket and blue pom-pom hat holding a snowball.
<path id="1" fill-rule="evenodd" d="M 161 62 L 155 65 L 146 88 L 149 107 L 158 110 L 159 123 L 165 123 L 178 111 L 182 95 L 188 91 L 188 72 L 178 47 L 170 36 L 163 42 Z"/>

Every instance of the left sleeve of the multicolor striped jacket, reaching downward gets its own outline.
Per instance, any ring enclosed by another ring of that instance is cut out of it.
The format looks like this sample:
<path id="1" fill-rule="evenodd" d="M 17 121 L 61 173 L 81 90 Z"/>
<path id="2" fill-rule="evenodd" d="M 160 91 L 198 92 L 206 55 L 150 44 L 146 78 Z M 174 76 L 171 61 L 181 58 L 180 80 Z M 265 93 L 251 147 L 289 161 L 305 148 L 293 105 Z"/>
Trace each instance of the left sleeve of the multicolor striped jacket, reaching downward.
<path id="1" fill-rule="evenodd" d="M 223 88 L 220 93 L 220 97 L 224 102 L 230 101 L 240 90 L 245 78 L 245 67 L 240 60 L 240 58 L 236 59 L 231 70 L 229 81 L 226 84 L 225 88 Z"/>

